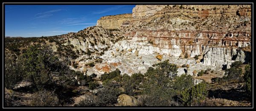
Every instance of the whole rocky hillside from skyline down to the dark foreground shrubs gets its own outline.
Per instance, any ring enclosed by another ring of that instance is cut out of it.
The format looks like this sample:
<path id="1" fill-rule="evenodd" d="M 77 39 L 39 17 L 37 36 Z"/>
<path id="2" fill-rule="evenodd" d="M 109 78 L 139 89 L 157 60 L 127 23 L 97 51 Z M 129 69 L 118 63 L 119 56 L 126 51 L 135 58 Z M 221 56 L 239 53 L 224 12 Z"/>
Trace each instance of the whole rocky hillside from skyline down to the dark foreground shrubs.
<path id="1" fill-rule="evenodd" d="M 191 76 L 193 84 L 202 81 L 209 84 L 216 83 L 212 82 L 212 79 L 225 78 L 227 71 L 234 68 L 233 63 L 236 61 L 251 64 L 251 26 L 250 5 L 137 5 L 132 10 L 132 14 L 101 17 L 96 26 L 76 33 L 53 37 L 5 37 L 5 58 L 18 61 L 28 49 L 31 50 L 30 46 L 49 46 L 52 55 L 67 63 L 68 68 L 65 70 L 79 72 L 74 75 L 67 74 L 67 77 L 76 81 L 74 85 L 68 85 L 68 88 L 60 90 L 69 90 L 67 94 L 73 92 L 73 95 L 69 95 L 62 103 L 75 105 L 78 104 L 78 100 L 86 98 L 85 95 L 97 94 L 98 90 L 101 91 L 104 86 L 102 83 L 106 83 L 102 78 L 106 74 L 120 74 L 113 78 L 115 82 L 121 84 L 122 76 L 126 74 L 131 77 L 133 74 L 148 76 L 147 74 L 151 74 L 149 71 L 154 72 L 152 67 L 157 71 L 156 64 L 165 61 L 175 64 L 175 68 L 177 65 L 175 74 L 178 77 L 184 74 Z M 241 74 L 246 72 L 245 67 L 246 65 L 239 67 L 243 68 Z M 236 67 L 237 70 L 239 68 Z M 90 79 L 99 83 L 94 90 L 87 88 L 89 82 L 84 81 L 88 79 L 81 79 L 89 76 L 96 76 Z M 53 78 L 57 78 L 58 81 L 60 77 Z M 228 79 L 223 81 L 225 83 Z M 233 81 L 235 80 L 230 83 Z M 242 86 L 233 88 L 228 82 L 224 85 L 232 87 L 239 95 L 242 92 L 238 90 L 243 89 L 245 85 L 243 80 L 235 81 L 235 85 L 237 84 Z M 220 87 L 224 87 L 222 85 Z M 210 96 L 207 97 L 204 105 L 213 103 L 215 106 L 251 105 L 248 102 L 250 99 L 243 98 L 242 103 L 237 103 L 239 100 L 230 100 L 230 97 L 224 97 L 225 100 L 212 98 L 217 94 L 216 91 L 221 90 L 221 88 L 213 90 L 212 88 L 215 87 L 214 84 L 207 88 Z M 129 96 L 140 98 L 139 92 L 143 91 L 143 88 L 134 86 L 133 89 L 131 91 L 134 95 Z M 121 88 L 121 90 L 125 89 Z M 226 94 L 225 91 L 222 94 Z M 22 95 L 22 93 L 18 91 L 18 94 Z M 137 93 L 139 95 L 136 95 Z M 248 98 L 247 95 L 242 97 Z M 72 103 L 67 102 L 69 100 Z M 228 103 L 225 104 L 225 101 Z M 108 105 L 116 105 L 116 102 Z M 178 103 L 172 105 L 182 106 Z"/>

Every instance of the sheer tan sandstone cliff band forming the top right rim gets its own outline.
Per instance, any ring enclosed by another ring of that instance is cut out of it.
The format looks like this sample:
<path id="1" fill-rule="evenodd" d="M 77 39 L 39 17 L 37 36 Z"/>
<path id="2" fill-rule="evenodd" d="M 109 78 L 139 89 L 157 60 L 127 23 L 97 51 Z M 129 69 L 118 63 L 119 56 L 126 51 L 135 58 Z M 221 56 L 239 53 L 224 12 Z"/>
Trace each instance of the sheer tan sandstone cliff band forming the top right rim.
<path id="1" fill-rule="evenodd" d="M 171 10 L 169 10 L 169 9 Z M 160 12 L 160 13 L 159 13 Z M 179 14 L 193 17 L 240 15 L 250 16 L 250 5 L 137 5 L 133 9 L 133 19 L 156 14 Z"/>

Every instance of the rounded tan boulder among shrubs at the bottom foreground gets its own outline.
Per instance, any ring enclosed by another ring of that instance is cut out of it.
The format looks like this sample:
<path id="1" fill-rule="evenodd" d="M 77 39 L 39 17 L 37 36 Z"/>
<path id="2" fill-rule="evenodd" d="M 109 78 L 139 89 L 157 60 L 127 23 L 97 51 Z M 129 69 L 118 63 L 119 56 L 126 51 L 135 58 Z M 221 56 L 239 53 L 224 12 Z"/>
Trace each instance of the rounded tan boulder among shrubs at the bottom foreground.
<path id="1" fill-rule="evenodd" d="M 119 95 L 117 102 L 121 106 L 136 106 L 138 104 L 138 100 L 135 97 L 126 94 Z"/>

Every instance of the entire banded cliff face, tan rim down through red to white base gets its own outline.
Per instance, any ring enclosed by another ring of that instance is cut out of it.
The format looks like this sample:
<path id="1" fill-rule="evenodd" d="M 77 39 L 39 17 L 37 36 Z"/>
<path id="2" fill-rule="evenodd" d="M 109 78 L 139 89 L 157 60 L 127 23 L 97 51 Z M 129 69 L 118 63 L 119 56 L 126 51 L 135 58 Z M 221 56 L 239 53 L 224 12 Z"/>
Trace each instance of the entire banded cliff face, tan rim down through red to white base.
<path id="1" fill-rule="evenodd" d="M 122 39 L 86 74 L 116 68 L 122 74 L 145 73 L 161 60 L 177 64 L 178 75 L 207 68 L 221 72 L 235 61 L 248 63 L 251 53 L 244 48 L 250 48 L 250 16 L 250 5 L 137 5 L 132 14 L 102 17 L 97 26 L 119 28 Z"/>

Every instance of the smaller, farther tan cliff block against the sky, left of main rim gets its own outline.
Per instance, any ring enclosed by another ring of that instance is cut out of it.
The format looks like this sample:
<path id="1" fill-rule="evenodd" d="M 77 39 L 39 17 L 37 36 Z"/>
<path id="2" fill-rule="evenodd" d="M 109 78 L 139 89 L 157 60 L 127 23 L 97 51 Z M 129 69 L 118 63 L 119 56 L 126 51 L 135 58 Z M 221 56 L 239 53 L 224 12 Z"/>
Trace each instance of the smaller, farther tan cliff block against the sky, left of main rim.
<path id="1" fill-rule="evenodd" d="M 101 17 L 97 21 L 96 26 L 101 26 L 103 28 L 114 29 L 127 27 L 130 25 L 132 19 L 132 14 L 119 14 L 112 16 Z"/>

